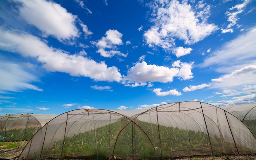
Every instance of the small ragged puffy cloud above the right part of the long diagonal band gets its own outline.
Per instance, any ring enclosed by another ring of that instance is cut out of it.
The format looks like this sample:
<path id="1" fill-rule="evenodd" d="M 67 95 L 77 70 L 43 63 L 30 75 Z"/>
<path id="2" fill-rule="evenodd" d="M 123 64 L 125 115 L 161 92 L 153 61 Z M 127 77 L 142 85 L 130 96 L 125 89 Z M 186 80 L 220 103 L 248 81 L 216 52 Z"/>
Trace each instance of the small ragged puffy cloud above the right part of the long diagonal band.
<path id="1" fill-rule="evenodd" d="M 121 39 L 123 35 L 119 31 L 111 29 L 106 31 L 105 35 L 106 37 L 102 37 L 99 41 L 94 42 L 98 48 L 96 52 L 100 53 L 103 57 L 113 57 L 114 55 L 126 57 L 126 54 L 117 50 L 117 46 L 123 44 Z"/>

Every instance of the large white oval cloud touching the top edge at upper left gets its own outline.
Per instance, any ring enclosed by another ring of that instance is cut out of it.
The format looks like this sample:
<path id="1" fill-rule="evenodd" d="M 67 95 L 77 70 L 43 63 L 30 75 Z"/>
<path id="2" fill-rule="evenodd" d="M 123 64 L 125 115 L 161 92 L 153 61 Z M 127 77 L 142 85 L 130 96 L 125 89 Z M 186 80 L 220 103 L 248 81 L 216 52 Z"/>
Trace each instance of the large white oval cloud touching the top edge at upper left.
<path id="1" fill-rule="evenodd" d="M 61 41 L 79 36 L 75 26 L 76 15 L 68 13 L 60 4 L 45 0 L 16 1 L 22 2 L 20 16 L 45 35 L 53 35 Z"/>

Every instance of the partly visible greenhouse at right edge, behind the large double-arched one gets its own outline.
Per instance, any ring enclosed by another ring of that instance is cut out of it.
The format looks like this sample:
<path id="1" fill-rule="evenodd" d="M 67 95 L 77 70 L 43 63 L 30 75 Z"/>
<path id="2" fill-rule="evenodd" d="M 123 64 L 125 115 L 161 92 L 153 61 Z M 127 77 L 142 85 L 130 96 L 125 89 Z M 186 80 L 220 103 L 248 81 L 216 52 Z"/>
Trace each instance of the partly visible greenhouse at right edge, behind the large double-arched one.
<path id="1" fill-rule="evenodd" d="M 256 135 L 256 104 L 230 105 L 221 107 L 243 121 Z"/>

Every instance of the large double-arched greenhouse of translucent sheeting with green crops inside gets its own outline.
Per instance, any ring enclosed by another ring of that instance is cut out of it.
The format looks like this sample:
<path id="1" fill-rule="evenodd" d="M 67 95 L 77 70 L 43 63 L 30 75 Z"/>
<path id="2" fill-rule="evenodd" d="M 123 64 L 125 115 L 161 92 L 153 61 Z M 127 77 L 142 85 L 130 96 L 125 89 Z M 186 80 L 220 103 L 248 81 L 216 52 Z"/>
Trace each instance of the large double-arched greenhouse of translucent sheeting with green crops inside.
<path id="1" fill-rule="evenodd" d="M 148 110 L 66 112 L 42 127 L 18 159 L 136 160 L 222 153 L 254 154 L 256 138 L 220 107 L 187 101 Z"/>

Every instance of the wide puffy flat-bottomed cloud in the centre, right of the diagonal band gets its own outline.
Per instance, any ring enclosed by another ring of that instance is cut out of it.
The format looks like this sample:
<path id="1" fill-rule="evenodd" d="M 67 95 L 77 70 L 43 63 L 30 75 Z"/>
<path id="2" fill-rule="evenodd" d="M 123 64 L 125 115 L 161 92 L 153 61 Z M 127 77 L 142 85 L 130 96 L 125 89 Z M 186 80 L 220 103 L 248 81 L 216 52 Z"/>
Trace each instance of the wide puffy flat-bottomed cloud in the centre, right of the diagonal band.
<path id="1" fill-rule="evenodd" d="M 138 62 L 128 70 L 127 76 L 125 76 L 124 79 L 128 81 L 128 84 L 142 83 L 146 85 L 145 82 L 172 82 L 174 77 L 178 77 L 181 80 L 193 78 L 191 72 L 193 63 L 188 64 L 176 61 L 174 64 L 173 68 L 168 68 L 155 64 L 147 64 L 145 61 Z"/>

